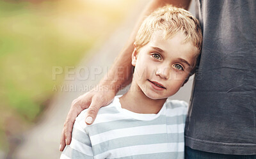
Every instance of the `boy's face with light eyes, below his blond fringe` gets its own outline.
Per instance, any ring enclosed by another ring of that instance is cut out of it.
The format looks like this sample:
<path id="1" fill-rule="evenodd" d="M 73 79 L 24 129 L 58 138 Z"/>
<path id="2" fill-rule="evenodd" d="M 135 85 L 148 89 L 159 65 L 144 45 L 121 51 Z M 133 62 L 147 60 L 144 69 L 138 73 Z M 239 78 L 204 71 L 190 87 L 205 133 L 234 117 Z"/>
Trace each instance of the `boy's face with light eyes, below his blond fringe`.
<path id="1" fill-rule="evenodd" d="M 189 77 L 198 51 L 192 43 L 184 43 L 185 35 L 177 33 L 168 40 L 156 31 L 140 53 L 134 49 L 135 66 L 132 82 L 151 99 L 163 99 L 179 91 Z"/>

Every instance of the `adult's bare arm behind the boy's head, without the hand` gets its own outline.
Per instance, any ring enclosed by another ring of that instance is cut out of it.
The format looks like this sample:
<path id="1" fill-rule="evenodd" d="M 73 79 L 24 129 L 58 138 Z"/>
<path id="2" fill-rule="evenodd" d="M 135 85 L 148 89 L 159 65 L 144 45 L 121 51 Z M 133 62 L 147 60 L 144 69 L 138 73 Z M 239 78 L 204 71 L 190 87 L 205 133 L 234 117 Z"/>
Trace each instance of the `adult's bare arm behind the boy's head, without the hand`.
<path id="1" fill-rule="evenodd" d="M 166 4 L 172 4 L 173 6 L 181 7 L 186 10 L 189 8 L 191 0 L 154 0 L 150 1 L 147 4 L 145 9 L 142 11 L 140 17 L 137 20 L 134 29 L 132 30 L 131 36 L 127 41 L 124 49 L 122 49 L 121 53 L 116 57 L 115 62 L 111 66 L 110 70 L 108 71 L 107 75 L 100 81 L 99 86 L 105 86 L 111 89 L 115 94 L 122 89 L 122 87 L 127 86 L 132 80 L 132 65 L 131 65 L 131 54 L 134 49 L 133 43 L 136 38 L 136 34 L 138 29 L 145 19 L 147 15 L 152 13 L 152 11 L 156 10 L 161 6 Z"/>

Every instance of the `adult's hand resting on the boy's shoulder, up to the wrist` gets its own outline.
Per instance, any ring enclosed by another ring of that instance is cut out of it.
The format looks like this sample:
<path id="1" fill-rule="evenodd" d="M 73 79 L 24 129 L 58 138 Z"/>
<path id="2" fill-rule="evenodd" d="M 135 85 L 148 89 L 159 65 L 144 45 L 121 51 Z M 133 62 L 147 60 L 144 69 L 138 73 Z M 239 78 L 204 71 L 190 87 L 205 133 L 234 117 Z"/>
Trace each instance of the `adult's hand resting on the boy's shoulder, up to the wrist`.
<path id="1" fill-rule="evenodd" d="M 114 91 L 108 90 L 108 87 L 101 87 L 101 89 L 95 87 L 92 91 L 73 100 L 61 133 L 60 151 L 63 151 L 66 144 L 70 144 L 72 128 L 76 117 L 80 112 L 88 108 L 86 111 L 85 122 L 90 125 L 97 116 L 100 107 L 111 103 L 114 97 Z"/>

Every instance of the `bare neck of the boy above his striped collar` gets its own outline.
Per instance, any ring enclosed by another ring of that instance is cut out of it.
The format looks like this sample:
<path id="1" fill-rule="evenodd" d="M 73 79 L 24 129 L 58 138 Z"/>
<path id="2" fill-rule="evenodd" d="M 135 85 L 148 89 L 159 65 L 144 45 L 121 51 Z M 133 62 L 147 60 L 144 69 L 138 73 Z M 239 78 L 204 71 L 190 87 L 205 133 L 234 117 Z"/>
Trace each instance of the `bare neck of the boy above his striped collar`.
<path id="1" fill-rule="evenodd" d="M 123 109 L 141 114 L 157 114 L 163 107 L 167 98 L 152 100 L 148 98 L 137 84 L 132 82 L 131 87 L 124 96 L 120 98 Z"/>

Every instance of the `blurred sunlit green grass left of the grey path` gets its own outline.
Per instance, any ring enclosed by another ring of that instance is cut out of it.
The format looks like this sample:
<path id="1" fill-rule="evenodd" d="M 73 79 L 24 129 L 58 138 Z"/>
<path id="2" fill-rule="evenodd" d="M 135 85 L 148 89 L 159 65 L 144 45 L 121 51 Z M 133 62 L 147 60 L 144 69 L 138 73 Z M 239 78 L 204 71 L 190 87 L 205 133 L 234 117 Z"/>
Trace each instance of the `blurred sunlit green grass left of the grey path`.
<path id="1" fill-rule="evenodd" d="M 125 0 L 0 0 L 0 152 L 51 101 L 53 66 L 76 66 L 131 9 Z M 19 142 L 19 141 L 17 141 Z M 19 143 L 16 143 L 19 144 Z"/>

